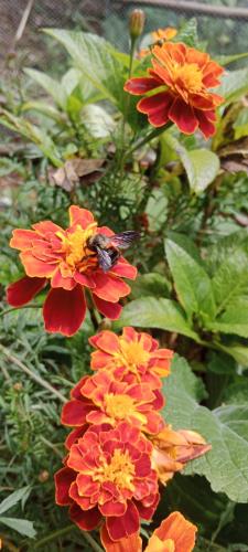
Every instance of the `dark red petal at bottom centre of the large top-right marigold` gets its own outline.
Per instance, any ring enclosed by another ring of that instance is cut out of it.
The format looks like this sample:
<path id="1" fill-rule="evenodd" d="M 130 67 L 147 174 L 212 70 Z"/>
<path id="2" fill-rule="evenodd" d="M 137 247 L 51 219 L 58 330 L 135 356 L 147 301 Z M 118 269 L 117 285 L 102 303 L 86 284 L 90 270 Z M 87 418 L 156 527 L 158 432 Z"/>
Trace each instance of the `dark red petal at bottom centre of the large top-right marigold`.
<path id="1" fill-rule="evenodd" d="M 193 134 L 198 127 L 198 120 L 194 115 L 193 108 L 181 98 L 174 100 L 169 112 L 169 118 L 175 123 L 181 132 L 185 135 Z"/>

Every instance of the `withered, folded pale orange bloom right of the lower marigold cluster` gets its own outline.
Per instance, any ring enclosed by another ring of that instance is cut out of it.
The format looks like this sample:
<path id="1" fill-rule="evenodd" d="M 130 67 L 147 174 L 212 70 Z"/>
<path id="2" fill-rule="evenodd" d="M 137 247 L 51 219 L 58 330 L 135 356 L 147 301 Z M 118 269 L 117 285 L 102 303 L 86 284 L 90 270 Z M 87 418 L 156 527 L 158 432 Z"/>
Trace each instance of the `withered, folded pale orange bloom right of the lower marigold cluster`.
<path id="1" fill-rule="evenodd" d="M 198 433 L 187 429 L 173 431 L 171 425 L 165 425 L 151 440 L 154 445 L 152 466 L 163 485 L 175 471 L 181 471 L 187 461 L 203 456 L 212 448 Z"/>

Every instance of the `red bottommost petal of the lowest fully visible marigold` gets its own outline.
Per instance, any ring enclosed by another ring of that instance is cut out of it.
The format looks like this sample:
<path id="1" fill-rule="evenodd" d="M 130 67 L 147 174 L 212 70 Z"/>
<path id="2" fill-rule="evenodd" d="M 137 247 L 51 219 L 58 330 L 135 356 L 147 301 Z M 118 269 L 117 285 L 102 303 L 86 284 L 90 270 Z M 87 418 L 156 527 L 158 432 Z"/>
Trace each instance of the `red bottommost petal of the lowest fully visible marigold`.
<path id="1" fill-rule="evenodd" d="M 140 528 L 140 520 L 136 506 L 129 501 L 126 513 L 117 518 L 107 518 L 106 527 L 112 541 L 137 533 Z"/>

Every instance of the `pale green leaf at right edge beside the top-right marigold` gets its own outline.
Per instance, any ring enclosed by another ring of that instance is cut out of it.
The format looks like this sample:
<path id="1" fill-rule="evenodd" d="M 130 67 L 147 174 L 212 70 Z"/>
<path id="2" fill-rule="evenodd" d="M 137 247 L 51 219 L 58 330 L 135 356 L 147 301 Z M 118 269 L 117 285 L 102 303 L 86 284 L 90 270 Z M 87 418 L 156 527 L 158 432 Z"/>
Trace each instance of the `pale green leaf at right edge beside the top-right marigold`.
<path id="1" fill-rule="evenodd" d="M 216 93 L 225 98 L 225 105 L 236 102 L 248 91 L 248 68 L 229 71 L 222 77 Z"/>

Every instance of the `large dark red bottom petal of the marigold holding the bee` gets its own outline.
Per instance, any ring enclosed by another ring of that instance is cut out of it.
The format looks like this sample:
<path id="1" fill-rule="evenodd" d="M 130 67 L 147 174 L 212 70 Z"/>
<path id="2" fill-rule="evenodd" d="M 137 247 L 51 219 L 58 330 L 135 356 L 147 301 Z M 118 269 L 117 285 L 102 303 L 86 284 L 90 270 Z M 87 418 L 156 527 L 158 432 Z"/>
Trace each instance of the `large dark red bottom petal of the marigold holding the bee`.
<path id="1" fill-rule="evenodd" d="M 72 291 L 51 289 L 43 307 L 45 329 L 73 336 L 84 321 L 85 314 L 86 302 L 80 286 L 76 286 Z"/>

